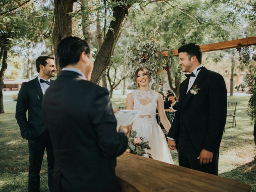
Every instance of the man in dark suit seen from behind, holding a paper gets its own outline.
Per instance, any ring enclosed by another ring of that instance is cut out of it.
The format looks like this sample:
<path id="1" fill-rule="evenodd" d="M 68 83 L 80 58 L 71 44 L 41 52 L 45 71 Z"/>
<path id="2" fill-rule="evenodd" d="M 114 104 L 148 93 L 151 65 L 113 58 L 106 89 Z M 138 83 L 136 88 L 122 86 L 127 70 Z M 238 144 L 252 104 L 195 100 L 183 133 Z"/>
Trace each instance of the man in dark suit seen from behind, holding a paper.
<path id="1" fill-rule="evenodd" d="M 85 40 L 64 38 L 57 55 L 62 71 L 42 104 L 54 148 L 54 190 L 114 192 L 116 157 L 127 148 L 131 126 L 117 132 L 108 91 L 90 82 Z"/>

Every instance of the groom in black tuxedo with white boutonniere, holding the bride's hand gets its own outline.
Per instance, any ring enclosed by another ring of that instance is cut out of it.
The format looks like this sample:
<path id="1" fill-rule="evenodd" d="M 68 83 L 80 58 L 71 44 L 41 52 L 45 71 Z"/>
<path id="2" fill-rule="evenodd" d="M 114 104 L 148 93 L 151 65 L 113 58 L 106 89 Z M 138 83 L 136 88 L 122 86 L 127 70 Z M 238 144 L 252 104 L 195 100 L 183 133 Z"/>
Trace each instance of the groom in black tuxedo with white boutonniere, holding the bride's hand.
<path id="1" fill-rule="evenodd" d="M 168 132 L 180 166 L 218 175 L 218 156 L 226 124 L 227 90 L 223 77 L 202 67 L 202 50 L 189 43 L 178 49 L 182 72 L 178 110 Z"/>

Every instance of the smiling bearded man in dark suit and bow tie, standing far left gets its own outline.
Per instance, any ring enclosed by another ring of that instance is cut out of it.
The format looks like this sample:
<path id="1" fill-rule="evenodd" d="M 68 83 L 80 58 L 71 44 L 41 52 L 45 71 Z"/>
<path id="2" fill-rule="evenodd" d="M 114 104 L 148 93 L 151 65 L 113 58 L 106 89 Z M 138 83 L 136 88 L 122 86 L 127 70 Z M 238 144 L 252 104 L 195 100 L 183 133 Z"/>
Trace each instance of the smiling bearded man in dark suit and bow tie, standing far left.
<path id="1" fill-rule="evenodd" d="M 28 140 L 29 149 L 29 170 L 28 170 L 28 191 L 39 192 L 40 169 L 44 156 L 44 149 L 47 152 L 48 162 L 48 186 L 53 191 L 53 170 L 54 154 L 50 136 L 42 112 L 43 95 L 52 83 L 56 66 L 51 56 L 40 56 L 36 59 L 36 70 L 39 73 L 36 78 L 24 82 L 18 94 L 16 104 L 16 120 L 20 126 L 22 138 Z M 28 111 L 28 119 L 26 112 Z"/>

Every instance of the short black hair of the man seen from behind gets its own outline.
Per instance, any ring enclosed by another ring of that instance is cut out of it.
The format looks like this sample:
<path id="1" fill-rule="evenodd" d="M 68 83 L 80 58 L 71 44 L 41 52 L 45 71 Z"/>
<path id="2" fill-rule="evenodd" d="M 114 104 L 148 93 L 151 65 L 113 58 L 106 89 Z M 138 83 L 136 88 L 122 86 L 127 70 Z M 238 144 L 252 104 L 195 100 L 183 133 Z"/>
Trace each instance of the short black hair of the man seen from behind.
<path id="1" fill-rule="evenodd" d="M 78 37 L 66 37 L 60 41 L 57 55 L 60 60 L 60 68 L 67 65 L 76 65 L 80 60 L 82 52 L 90 57 L 90 48 L 85 40 Z"/>

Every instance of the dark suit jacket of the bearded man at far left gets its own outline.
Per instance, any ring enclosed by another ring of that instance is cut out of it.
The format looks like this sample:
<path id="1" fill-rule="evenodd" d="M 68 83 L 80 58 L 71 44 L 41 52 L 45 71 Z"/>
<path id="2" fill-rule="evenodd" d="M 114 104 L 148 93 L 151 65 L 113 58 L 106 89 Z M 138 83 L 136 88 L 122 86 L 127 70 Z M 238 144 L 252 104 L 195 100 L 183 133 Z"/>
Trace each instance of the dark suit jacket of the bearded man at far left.
<path id="1" fill-rule="evenodd" d="M 51 83 L 53 80 L 51 80 Z M 18 94 L 16 120 L 23 138 L 40 140 L 47 135 L 46 124 L 42 113 L 43 92 L 38 77 L 24 82 Z M 26 112 L 28 111 L 28 119 Z"/>

